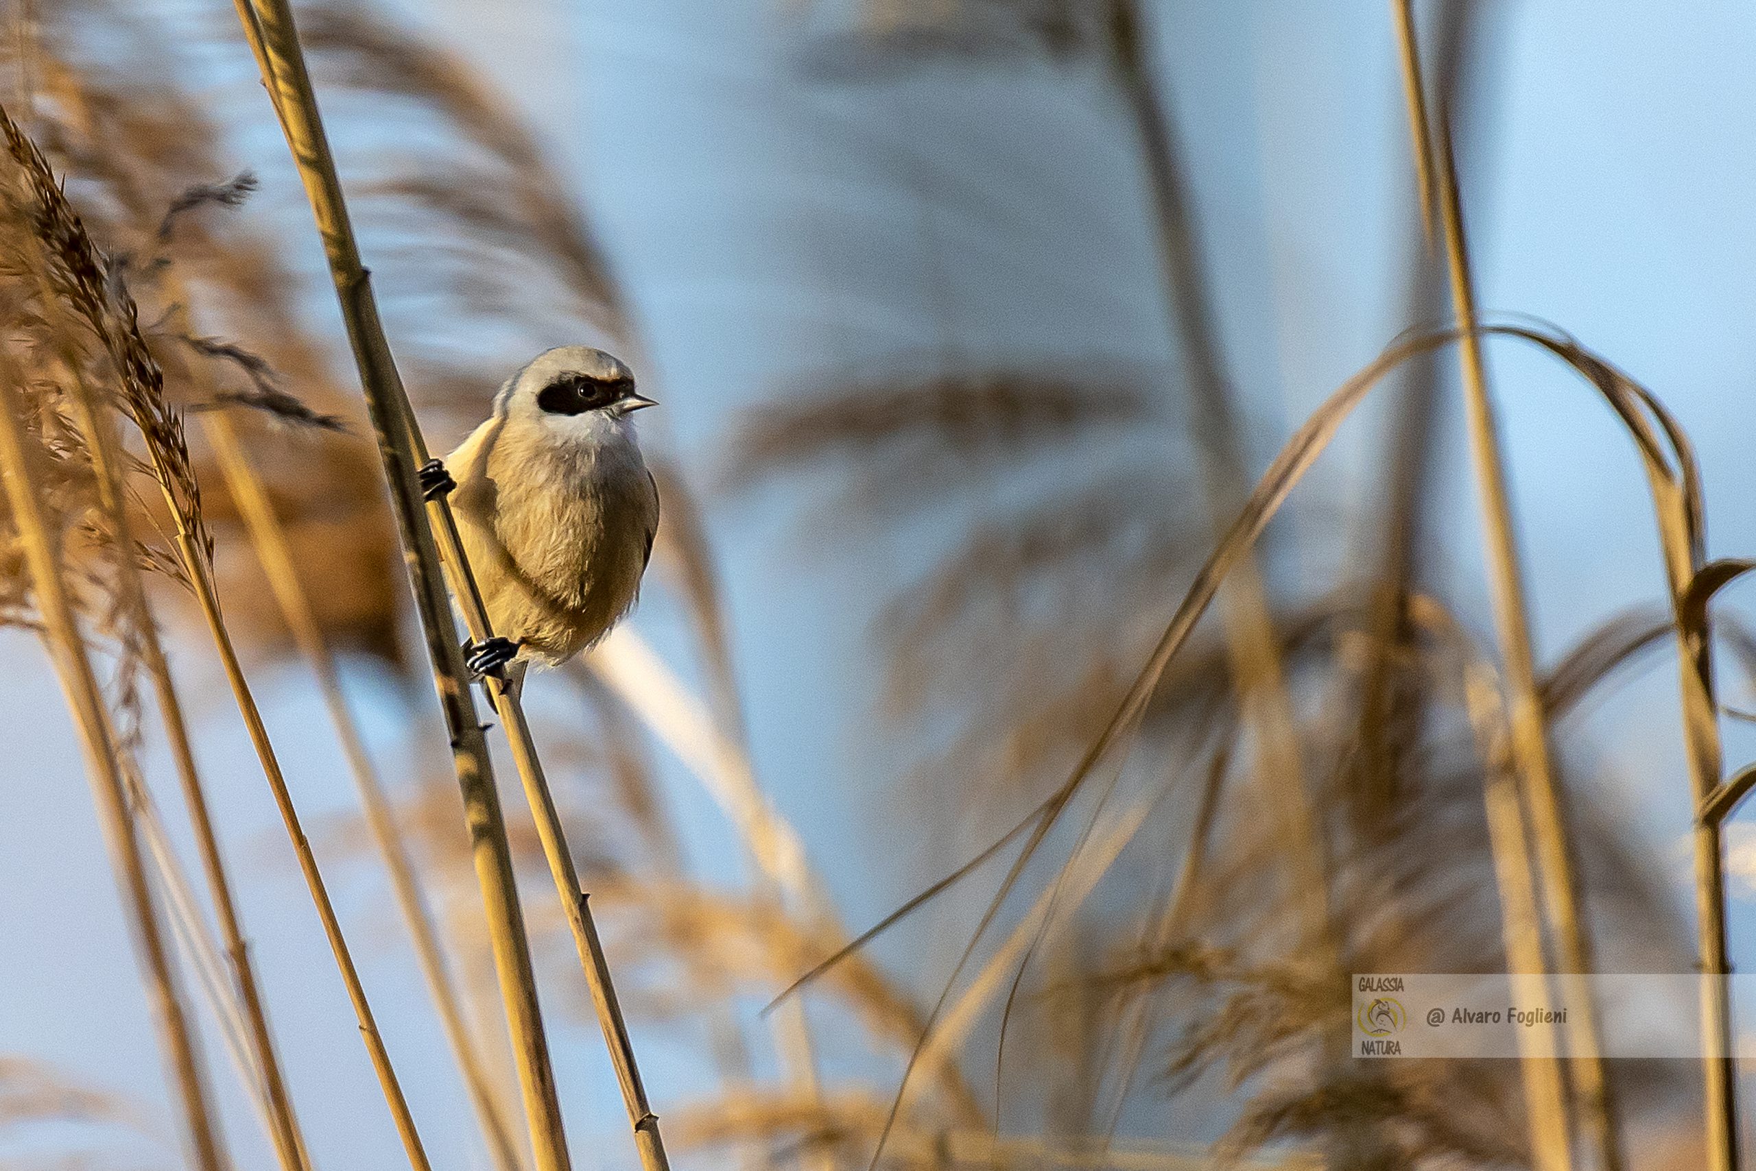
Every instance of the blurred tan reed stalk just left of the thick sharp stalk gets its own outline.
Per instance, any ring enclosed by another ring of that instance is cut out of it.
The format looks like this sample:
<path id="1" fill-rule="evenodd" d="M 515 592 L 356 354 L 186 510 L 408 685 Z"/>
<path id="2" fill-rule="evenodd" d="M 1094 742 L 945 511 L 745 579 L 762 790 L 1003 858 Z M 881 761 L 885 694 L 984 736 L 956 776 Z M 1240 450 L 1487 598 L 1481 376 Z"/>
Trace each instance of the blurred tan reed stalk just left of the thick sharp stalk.
<path id="1" fill-rule="evenodd" d="M 409 938 L 414 941 L 414 957 L 432 995 L 434 1009 L 439 1013 L 439 1025 L 444 1029 L 458 1071 L 464 1074 L 464 1085 L 481 1124 L 488 1152 L 499 1171 L 518 1171 L 518 1148 L 506 1118 L 506 1106 L 499 1099 L 493 1080 L 488 1076 L 486 1066 L 469 1036 L 464 1008 L 458 1002 L 457 987 L 446 966 L 444 948 L 439 943 L 439 930 L 427 906 L 427 895 L 421 890 L 420 876 L 414 873 L 414 864 L 409 858 L 402 830 L 390 808 L 390 799 L 378 778 L 378 769 L 372 765 L 365 741 L 360 737 L 353 709 L 341 690 L 335 657 L 330 651 L 328 639 L 323 636 L 323 627 L 318 623 L 311 599 L 293 564 L 286 528 L 274 513 L 274 504 L 269 500 L 262 478 L 251 467 L 249 458 L 246 458 L 230 416 L 223 411 L 205 413 L 202 414 L 202 427 L 220 462 L 227 490 L 232 493 L 249 528 L 251 544 L 269 578 L 269 586 L 274 592 L 281 616 L 286 620 L 293 634 L 293 643 L 299 644 L 300 653 L 311 664 L 311 671 L 318 679 L 323 706 L 328 709 L 330 723 L 335 725 L 335 737 L 341 741 L 355 787 L 360 790 L 360 804 L 365 809 L 367 825 L 372 829 L 379 857 L 383 857 L 385 869 L 390 874 L 397 908 L 409 929 Z"/>

